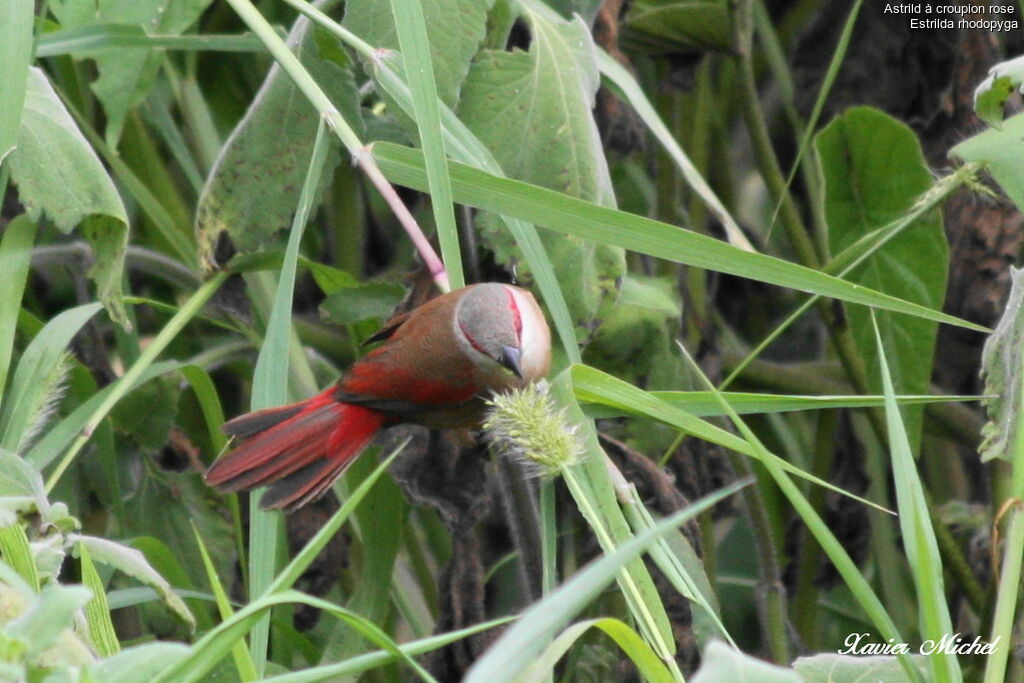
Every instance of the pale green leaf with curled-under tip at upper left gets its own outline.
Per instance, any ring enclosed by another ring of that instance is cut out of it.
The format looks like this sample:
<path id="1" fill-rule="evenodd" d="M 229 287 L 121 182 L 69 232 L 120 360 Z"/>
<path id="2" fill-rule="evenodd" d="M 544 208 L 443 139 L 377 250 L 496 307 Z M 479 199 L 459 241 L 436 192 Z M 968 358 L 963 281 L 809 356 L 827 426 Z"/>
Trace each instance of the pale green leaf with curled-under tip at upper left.
<path id="1" fill-rule="evenodd" d="M 17 148 L 8 162 L 29 217 L 46 214 L 62 232 L 79 227 L 95 252 L 88 274 L 99 300 L 111 317 L 127 325 L 121 302 L 128 243 L 124 205 L 46 75 L 35 67 L 29 72 Z"/>

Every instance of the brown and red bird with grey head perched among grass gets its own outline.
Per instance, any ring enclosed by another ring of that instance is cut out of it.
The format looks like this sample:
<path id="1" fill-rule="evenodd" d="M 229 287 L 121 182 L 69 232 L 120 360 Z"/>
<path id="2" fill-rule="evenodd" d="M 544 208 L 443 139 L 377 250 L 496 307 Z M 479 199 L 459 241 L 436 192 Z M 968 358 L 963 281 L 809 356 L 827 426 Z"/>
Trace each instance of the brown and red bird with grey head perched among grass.
<path id="1" fill-rule="evenodd" d="M 366 343 L 377 342 L 323 392 L 226 422 L 238 444 L 206 482 L 222 493 L 268 486 L 260 506 L 293 512 L 327 493 L 380 430 L 478 426 L 487 398 L 543 378 L 551 365 L 537 300 L 502 283 L 463 287 L 396 315 Z"/>

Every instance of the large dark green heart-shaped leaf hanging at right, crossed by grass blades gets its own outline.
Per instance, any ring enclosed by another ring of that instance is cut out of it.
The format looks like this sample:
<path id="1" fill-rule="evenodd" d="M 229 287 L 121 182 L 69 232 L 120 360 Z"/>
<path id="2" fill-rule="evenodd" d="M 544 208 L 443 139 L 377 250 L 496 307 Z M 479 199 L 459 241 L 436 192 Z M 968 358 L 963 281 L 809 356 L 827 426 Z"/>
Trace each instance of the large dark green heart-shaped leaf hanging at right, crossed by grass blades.
<path id="1" fill-rule="evenodd" d="M 906 213 L 932 185 L 918 137 L 906 125 L 873 109 L 858 106 L 818 133 L 815 147 L 824 176 L 824 211 L 833 253 Z M 937 213 L 893 239 L 854 271 L 853 283 L 904 301 L 941 309 L 949 248 Z M 849 309 L 853 338 L 879 390 L 879 355 L 869 312 Z M 927 393 L 938 326 L 931 321 L 879 312 L 879 326 L 898 393 Z M 923 409 L 906 412 L 910 447 L 918 451 Z"/>

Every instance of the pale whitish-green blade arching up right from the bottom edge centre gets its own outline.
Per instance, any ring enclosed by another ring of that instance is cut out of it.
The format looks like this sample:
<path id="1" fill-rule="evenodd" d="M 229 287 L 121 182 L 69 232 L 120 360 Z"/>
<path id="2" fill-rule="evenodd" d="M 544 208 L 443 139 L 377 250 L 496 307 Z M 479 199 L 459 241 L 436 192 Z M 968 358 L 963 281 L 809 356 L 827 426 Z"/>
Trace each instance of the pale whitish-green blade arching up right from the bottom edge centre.
<path id="1" fill-rule="evenodd" d="M 666 517 L 654 528 L 620 546 L 614 552 L 591 562 L 558 590 L 534 603 L 469 670 L 466 683 L 501 683 L 519 675 L 543 651 L 545 643 L 562 624 L 572 618 L 614 580 L 615 574 L 663 535 L 711 509 L 749 481 L 737 481 Z"/>

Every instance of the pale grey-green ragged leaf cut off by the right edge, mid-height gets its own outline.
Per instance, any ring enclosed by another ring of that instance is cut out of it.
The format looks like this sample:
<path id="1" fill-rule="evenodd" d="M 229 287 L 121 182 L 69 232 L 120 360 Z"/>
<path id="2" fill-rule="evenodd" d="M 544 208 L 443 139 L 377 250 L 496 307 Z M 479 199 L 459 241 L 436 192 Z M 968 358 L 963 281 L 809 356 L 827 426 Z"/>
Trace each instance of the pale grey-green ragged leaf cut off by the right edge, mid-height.
<path id="1" fill-rule="evenodd" d="M 1012 460 L 1012 449 L 1020 441 L 1021 396 L 1024 394 L 1024 268 L 1011 266 L 1013 286 L 1002 317 L 995 332 L 985 342 L 981 354 L 981 376 L 985 379 L 982 400 L 988 422 L 981 429 L 978 446 L 981 462 L 993 458 Z"/>

